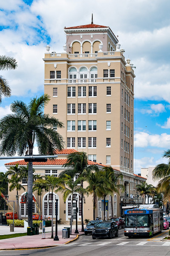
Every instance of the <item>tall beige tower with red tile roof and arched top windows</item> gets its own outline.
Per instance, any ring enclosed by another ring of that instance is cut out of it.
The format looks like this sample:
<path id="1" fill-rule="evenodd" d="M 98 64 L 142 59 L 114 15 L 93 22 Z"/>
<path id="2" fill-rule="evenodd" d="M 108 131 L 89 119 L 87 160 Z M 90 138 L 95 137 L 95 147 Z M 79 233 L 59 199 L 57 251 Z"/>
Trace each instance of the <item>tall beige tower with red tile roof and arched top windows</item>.
<path id="1" fill-rule="evenodd" d="M 66 148 L 133 174 L 134 71 L 108 26 L 64 28 L 63 52 L 45 53 L 45 113 L 64 123 Z"/>

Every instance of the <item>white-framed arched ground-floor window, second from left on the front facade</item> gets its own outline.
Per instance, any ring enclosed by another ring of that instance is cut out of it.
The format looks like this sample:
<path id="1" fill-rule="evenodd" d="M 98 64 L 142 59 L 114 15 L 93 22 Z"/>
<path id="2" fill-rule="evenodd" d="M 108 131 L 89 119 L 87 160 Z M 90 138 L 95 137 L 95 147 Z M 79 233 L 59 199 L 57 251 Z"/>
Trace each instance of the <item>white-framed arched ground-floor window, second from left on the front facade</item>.
<path id="1" fill-rule="evenodd" d="M 43 198 L 43 214 L 46 217 L 51 217 L 52 216 L 52 203 L 53 203 L 53 217 L 55 217 L 55 213 L 56 213 L 56 199 L 55 199 L 56 194 L 53 193 L 53 200 L 52 200 L 52 193 L 48 193 L 44 196 Z M 59 212 L 60 212 L 60 202 L 58 199 L 58 219 L 59 219 Z"/>

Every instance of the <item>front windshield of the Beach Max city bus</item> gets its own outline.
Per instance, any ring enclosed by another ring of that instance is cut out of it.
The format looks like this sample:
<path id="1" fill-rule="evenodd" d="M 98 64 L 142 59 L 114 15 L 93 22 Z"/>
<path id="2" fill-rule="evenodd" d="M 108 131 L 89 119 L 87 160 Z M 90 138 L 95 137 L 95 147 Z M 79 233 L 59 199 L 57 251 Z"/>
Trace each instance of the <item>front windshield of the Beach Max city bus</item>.
<path id="1" fill-rule="evenodd" d="M 130 227 L 144 227 L 149 225 L 148 215 L 144 214 L 132 214 L 125 215 L 125 226 Z"/>

